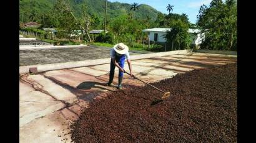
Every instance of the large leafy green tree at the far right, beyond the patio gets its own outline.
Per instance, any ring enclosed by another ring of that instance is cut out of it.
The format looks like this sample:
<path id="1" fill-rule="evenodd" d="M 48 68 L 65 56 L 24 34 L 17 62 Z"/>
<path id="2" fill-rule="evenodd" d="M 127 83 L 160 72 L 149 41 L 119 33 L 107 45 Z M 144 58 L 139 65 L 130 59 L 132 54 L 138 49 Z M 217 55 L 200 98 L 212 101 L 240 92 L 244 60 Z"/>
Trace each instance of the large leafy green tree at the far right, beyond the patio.
<path id="1" fill-rule="evenodd" d="M 237 1 L 213 0 L 210 7 L 200 7 L 197 25 L 205 39 L 201 48 L 237 50 Z"/>

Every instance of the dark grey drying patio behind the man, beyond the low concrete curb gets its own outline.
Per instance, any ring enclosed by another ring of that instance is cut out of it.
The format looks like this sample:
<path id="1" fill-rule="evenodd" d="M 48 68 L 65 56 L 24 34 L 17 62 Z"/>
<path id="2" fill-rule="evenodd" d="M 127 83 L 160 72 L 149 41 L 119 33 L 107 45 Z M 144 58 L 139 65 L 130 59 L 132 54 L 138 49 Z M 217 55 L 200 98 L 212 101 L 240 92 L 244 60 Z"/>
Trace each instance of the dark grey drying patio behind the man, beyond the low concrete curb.
<path id="1" fill-rule="evenodd" d="M 77 46 L 73 48 L 37 47 L 32 50 L 19 50 L 19 66 L 108 58 L 110 56 L 110 50 L 111 48 L 89 46 Z M 137 54 L 130 52 L 130 55 Z"/>

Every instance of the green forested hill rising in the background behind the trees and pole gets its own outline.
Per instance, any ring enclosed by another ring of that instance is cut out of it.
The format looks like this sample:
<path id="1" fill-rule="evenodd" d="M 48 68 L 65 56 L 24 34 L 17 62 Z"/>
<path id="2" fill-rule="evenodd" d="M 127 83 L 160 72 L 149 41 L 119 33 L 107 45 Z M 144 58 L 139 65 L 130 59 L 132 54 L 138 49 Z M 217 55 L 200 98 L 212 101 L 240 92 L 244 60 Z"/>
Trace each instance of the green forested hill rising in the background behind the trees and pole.
<path id="1" fill-rule="evenodd" d="M 22 22 L 36 21 L 41 22 L 42 16 L 49 13 L 53 8 L 56 0 L 22 0 L 19 4 L 19 17 Z M 81 7 L 85 4 L 87 12 L 99 17 L 100 21 L 104 19 L 105 0 L 72 0 L 71 6 L 76 15 L 81 14 Z M 129 14 L 130 4 L 121 2 L 107 2 L 107 17 L 111 20 L 114 17 L 122 14 Z M 155 10 L 146 4 L 140 4 L 139 9 L 135 11 L 135 18 L 146 19 L 150 17 L 152 21 L 155 20 L 159 11 Z"/>

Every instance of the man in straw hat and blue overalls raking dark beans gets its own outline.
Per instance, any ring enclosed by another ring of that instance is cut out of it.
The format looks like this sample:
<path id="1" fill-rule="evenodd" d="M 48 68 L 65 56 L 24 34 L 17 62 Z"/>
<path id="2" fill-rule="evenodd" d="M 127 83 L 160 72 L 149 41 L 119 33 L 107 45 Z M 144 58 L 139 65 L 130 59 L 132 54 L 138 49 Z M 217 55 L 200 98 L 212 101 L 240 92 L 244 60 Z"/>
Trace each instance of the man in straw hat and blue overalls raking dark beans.
<path id="1" fill-rule="evenodd" d="M 130 54 L 129 48 L 127 45 L 123 43 L 119 43 L 114 45 L 111 49 L 111 71 L 109 73 L 109 82 L 107 83 L 108 86 L 112 85 L 112 81 L 114 78 L 115 68 L 119 68 L 119 75 L 118 75 L 118 86 L 119 90 L 122 90 L 122 78 L 124 76 L 124 62 L 127 59 L 127 63 L 129 65 L 130 76 L 132 77 L 132 63 L 130 62 Z"/>

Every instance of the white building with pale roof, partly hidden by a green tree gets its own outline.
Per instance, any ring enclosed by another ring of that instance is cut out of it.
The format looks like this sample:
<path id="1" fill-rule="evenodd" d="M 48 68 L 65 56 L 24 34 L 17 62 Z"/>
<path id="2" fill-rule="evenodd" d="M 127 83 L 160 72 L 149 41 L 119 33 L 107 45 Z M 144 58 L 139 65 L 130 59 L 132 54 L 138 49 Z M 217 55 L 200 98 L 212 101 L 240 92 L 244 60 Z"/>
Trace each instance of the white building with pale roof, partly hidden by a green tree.
<path id="1" fill-rule="evenodd" d="M 142 32 L 145 32 L 149 35 L 149 40 L 152 42 L 166 42 L 165 34 L 170 31 L 171 28 L 153 28 L 153 29 L 144 29 Z M 200 37 L 199 29 L 189 29 L 190 39 L 192 40 L 191 44 L 199 45 L 202 41 Z"/>

